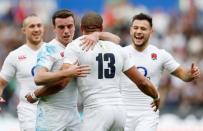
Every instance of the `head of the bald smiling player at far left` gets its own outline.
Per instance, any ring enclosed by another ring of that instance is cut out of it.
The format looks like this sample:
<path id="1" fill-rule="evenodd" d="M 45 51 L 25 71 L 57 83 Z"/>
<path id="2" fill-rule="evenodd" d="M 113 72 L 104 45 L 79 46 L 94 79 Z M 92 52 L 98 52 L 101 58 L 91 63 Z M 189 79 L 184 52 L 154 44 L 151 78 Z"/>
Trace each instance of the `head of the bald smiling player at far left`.
<path id="1" fill-rule="evenodd" d="M 30 16 L 23 22 L 23 33 L 26 36 L 26 42 L 37 45 L 42 42 L 44 27 L 42 21 L 37 16 Z"/>

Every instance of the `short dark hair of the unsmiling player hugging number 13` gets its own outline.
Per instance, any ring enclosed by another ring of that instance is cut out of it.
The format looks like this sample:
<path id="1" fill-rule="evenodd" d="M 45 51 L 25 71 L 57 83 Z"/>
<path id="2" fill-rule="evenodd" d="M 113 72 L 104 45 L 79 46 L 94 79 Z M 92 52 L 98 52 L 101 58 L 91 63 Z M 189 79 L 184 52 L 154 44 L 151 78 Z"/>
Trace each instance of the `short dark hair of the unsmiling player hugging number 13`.
<path id="1" fill-rule="evenodd" d="M 67 17 L 73 17 L 73 20 L 75 23 L 75 16 L 72 11 L 67 10 L 67 9 L 58 10 L 52 16 L 52 24 L 55 26 L 56 18 L 67 18 Z"/>

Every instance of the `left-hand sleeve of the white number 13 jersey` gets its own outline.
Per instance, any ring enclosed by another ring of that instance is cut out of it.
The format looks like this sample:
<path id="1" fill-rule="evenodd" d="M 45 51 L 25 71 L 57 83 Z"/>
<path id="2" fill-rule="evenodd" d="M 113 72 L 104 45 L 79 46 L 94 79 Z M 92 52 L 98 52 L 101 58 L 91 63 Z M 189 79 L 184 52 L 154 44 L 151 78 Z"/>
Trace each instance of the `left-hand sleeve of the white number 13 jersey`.
<path id="1" fill-rule="evenodd" d="M 78 57 L 80 54 L 78 41 L 73 41 L 69 43 L 64 51 L 64 64 L 74 64 L 76 61 L 78 61 Z"/>

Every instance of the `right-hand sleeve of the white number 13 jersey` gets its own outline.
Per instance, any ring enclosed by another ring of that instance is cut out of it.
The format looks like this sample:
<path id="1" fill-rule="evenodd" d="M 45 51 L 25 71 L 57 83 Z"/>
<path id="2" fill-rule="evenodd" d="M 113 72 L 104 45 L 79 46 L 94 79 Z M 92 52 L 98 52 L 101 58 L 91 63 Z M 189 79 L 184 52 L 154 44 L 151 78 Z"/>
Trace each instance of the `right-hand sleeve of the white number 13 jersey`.
<path id="1" fill-rule="evenodd" d="M 123 72 L 127 71 L 131 67 L 134 66 L 134 63 L 131 60 L 131 57 L 128 52 L 125 51 L 124 48 L 121 48 L 121 53 L 123 55 L 124 65 L 123 65 Z"/>

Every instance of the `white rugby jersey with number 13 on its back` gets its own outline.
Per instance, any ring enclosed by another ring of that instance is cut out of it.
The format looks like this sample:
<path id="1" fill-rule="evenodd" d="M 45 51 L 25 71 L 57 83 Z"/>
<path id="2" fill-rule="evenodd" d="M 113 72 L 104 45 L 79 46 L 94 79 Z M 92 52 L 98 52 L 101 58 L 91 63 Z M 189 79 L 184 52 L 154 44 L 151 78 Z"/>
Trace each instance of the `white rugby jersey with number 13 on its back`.
<path id="1" fill-rule="evenodd" d="M 119 79 L 122 71 L 133 66 L 122 48 L 108 41 L 99 41 L 93 50 L 83 51 L 80 38 L 68 44 L 64 52 L 64 63 L 88 64 L 87 77 L 78 77 L 77 84 L 85 108 L 103 105 L 121 105 Z"/>

